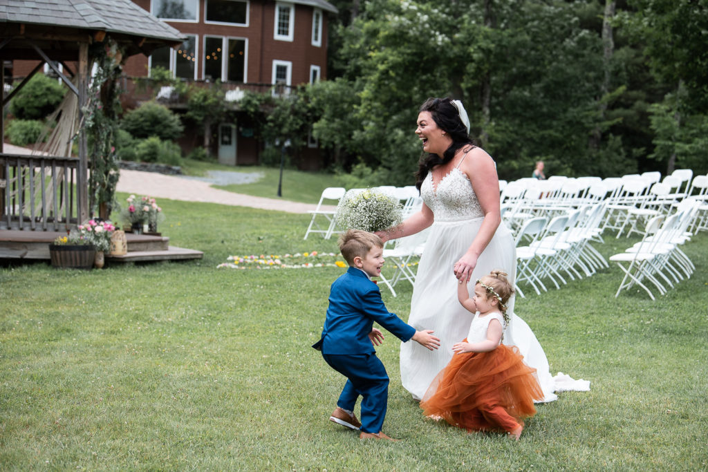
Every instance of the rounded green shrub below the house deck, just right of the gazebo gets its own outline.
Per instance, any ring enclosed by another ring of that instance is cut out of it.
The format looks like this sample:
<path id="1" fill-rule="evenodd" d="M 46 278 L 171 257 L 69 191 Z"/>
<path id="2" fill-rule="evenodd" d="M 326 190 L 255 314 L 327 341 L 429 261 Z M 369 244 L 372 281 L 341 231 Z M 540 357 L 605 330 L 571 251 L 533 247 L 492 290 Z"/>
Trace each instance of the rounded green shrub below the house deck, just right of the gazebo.
<path id="1" fill-rule="evenodd" d="M 176 139 L 184 129 L 175 113 L 154 102 L 130 110 L 123 117 L 120 127 L 136 138 L 156 136 L 160 139 Z"/>

